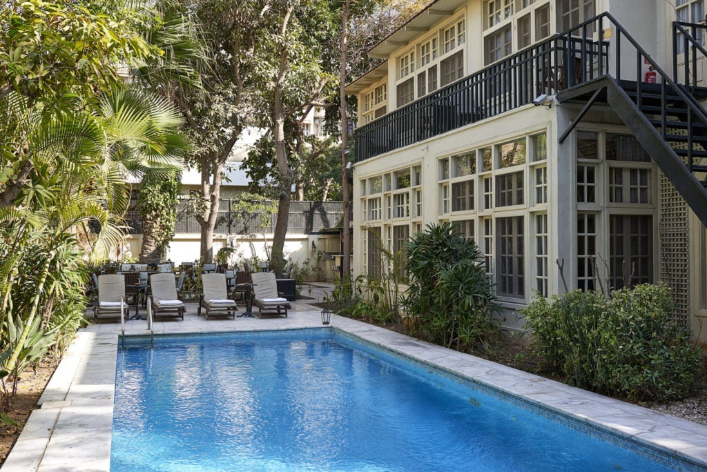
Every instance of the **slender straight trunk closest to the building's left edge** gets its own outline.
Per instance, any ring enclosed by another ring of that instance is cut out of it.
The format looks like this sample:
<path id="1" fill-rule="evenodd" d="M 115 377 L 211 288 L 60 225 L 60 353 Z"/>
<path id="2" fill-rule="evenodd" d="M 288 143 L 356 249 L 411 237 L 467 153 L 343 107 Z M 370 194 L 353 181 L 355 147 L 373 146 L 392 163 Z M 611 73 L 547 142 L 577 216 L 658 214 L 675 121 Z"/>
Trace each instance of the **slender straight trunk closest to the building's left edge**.
<path id="1" fill-rule="evenodd" d="M 349 197 L 349 170 L 346 169 L 346 146 L 349 136 L 348 117 L 346 115 L 346 35 L 349 34 L 349 1 L 344 2 L 341 12 L 341 63 L 339 64 L 339 112 L 341 113 L 341 193 L 344 197 L 344 215 L 341 218 L 341 239 L 344 243 L 344 256 L 341 258 L 341 278 L 351 276 L 351 198 Z"/>

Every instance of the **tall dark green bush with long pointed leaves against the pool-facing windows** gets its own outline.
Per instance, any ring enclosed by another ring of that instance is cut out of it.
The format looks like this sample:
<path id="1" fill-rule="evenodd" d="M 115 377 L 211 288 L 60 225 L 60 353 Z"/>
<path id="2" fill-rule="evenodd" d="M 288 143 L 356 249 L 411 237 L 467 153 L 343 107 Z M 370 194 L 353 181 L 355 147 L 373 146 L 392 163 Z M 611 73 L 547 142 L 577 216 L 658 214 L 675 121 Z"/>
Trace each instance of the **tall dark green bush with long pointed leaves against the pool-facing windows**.
<path id="1" fill-rule="evenodd" d="M 428 225 L 407 246 L 404 298 L 415 336 L 457 350 L 488 350 L 501 336 L 496 296 L 474 240 L 450 223 Z"/>

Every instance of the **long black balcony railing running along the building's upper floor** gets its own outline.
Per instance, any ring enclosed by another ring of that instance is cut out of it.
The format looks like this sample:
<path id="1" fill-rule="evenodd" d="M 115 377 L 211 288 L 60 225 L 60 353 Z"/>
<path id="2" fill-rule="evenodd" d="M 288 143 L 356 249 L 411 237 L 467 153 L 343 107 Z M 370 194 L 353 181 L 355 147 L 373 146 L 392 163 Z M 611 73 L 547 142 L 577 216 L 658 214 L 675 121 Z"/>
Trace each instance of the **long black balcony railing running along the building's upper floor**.
<path id="1" fill-rule="evenodd" d="M 598 16 L 356 129 L 356 162 L 527 105 L 608 73 Z M 596 33 L 599 32 L 599 33 Z"/>

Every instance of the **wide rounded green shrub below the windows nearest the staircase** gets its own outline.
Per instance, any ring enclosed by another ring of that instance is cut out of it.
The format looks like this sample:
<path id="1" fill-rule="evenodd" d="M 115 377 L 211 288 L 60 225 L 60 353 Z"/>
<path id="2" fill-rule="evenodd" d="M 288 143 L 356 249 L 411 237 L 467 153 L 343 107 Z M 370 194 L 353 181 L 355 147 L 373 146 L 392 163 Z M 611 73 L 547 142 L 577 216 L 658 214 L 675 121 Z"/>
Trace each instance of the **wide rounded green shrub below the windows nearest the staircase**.
<path id="1" fill-rule="evenodd" d="M 674 320 L 670 288 L 637 285 L 611 297 L 574 290 L 524 310 L 532 348 L 569 384 L 633 401 L 685 396 L 703 365 Z"/>

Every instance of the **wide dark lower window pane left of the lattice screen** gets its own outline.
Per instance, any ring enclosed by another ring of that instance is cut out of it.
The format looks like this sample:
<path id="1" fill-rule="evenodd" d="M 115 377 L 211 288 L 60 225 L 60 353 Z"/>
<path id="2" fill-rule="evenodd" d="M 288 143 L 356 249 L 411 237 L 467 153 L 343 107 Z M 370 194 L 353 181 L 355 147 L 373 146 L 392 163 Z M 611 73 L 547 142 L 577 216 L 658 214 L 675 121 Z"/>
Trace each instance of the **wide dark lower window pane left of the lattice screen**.
<path id="1" fill-rule="evenodd" d="M 653 216 L 609 217 L 609 271 L 614 290 L 653 283 Z"/>

